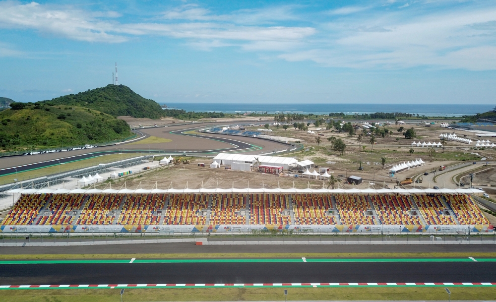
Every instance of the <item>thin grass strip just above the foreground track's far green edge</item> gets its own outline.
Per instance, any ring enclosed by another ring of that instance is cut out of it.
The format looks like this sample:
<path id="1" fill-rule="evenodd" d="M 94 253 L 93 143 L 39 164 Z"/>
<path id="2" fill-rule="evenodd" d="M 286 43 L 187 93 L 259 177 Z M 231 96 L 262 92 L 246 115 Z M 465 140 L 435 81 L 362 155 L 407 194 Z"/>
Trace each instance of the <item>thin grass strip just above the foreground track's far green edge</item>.
<path id="1" fill-rule="evenodd" d="M 495 258 L 496 252 L 452 253 L 184 253 L 184 254 L 1 254 L 0 259 L 203 259 L 203 258 Z"/>

